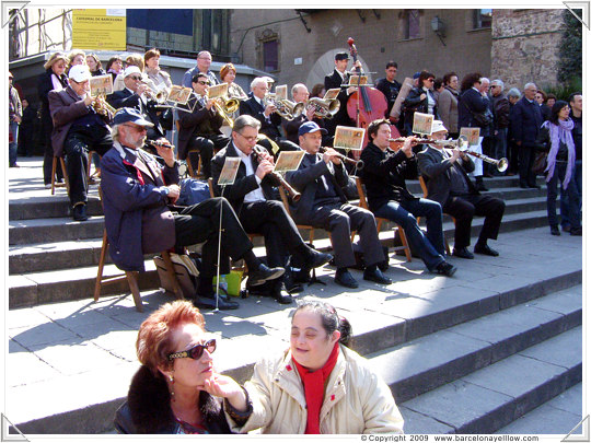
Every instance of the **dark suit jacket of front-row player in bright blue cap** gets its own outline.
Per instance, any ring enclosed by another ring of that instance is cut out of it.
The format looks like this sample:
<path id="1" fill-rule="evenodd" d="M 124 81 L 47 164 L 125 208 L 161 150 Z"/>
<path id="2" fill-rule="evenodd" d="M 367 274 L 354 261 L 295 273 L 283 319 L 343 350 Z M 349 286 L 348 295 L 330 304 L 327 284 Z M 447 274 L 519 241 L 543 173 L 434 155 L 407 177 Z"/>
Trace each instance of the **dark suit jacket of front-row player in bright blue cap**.
<path id="1" fill-rule="evenodd" d="M 349 183 L 347 170 L 343 163 L 340 165 L 333 164 L 333 166 L 334 173 L 331 173 L 327 164 L 322 160 L 322 154 L 316 154 L 314 158 L 306 154 L 297 171 L 290 171 L 286 174 L 288 183 L 302 194 L 300 201 L 291 208 L 296 222 L 309 223 L 312 212 L 317 208 L 315 196 L 318 179 L 323 175 L 333 183 L 340 201 L 347 202 L 347 197 L 343 191 L 343 187 Z"/>

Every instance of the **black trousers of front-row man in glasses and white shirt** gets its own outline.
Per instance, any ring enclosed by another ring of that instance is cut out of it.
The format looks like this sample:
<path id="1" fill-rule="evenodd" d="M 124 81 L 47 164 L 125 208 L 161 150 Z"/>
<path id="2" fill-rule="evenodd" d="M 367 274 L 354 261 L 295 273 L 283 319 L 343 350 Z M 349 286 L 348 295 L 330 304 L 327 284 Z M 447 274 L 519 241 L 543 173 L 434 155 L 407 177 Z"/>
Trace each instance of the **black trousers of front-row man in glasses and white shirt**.
<path id="1" fill-rule="evenodd" d="M 265 237 L 267 265 L 270 267 L 285 267 L 289 255 L 302 256 L 308 250 L 296 223 L 280 201 L 244 202 L 240 221 L 247 233 Z"/>

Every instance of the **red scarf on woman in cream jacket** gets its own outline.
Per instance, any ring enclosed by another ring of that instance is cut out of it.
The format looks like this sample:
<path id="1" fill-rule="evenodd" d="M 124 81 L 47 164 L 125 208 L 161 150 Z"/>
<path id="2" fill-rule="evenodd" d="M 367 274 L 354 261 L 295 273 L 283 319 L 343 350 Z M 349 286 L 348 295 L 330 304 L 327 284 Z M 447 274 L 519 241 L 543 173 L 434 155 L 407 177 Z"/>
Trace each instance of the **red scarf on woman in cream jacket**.
<path id="1" fill-rule="evenodd" d="M 328 360 L 320 370 L 311 372 L 293 360 L 298 373 L 304 385 L 305 403 L 308 405 L 308 422 L 305 423 L 306 434 L 320 434 L 320 411 L 324 400 L 324 385 L 335 368 L 338 358 L 338 341 L 335 343 Z"/>

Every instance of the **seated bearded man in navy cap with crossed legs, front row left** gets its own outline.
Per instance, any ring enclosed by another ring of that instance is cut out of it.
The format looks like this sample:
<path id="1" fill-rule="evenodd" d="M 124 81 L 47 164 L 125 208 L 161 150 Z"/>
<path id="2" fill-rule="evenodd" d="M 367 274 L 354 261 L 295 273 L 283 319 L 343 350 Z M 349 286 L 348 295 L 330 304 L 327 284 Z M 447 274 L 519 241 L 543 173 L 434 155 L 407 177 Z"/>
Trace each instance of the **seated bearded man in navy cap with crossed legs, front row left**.
<path id="1" fill-rule="evenodd" d="M 101 162 L 105 228 L 115 265 L 123 270 L 140 271 L 143 270 L 143 254 L 172 247 L 182 252 L 184 246 L 205 242 L 194 303 L 198 307 L 215 307 L 212 280 L 221 228 L 223 255 L 246 261 L 252 270 L 251 284 L 279 278 L 283 269 L 269 269 L 256 258 L 248 236 L 225 199 L 211 198 L 179 213 L 171 212 L 169 205 L 174 205 L 179 194 L 178 163 L 170 145 L 157 145 L 158 154 L 164 160 L 163 166 L 140 149 L 151 125 L 136 109 L 119 109 L 113 121 L 113 149 Z M 223 267 L 228 261 L 221 260 L 221 264 Z M 228 271 L 220 270 L 222 273 Z M 222 295 L 218 303 L 221 310 L 239 307 Z"/>

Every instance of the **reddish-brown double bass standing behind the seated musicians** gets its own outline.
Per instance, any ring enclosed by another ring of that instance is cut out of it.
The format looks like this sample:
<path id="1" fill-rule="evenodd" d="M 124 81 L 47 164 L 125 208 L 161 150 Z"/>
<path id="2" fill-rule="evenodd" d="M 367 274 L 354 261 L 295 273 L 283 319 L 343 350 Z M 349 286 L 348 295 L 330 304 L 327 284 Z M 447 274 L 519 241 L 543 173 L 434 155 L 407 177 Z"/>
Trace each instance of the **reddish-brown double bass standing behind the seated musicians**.
<path id="1" fill-rule="evenodd" d="M 349 44 L 349 53 L 354 59 L 354 65 L 357 63 L 357 47 L 355 46 L 355 40 L 349 37 L 347 43 Z M 361 68 L 357 68 L 357 73 L 362 75 Z M 347 102 L 347 114 L 349 118 L 356 123 L 358 128 L 366 129 L 366 136 L 363 139 L 363 145 L 367 145 L 369 142 L 369 136 L 367 128 L 370 123 L 384 118 L 387 110 L 387 100 L 382 94 L 381 91 L 378 91 L 375 88 L 358 85 L 358 90 L 349 96 Z M 390 125 L 392 131 L 392 138 L 399 137 L 401 133 L 394 125 Z M 354 156 L 356 160 L 359 160 L 361 152 L 355 151 Z"/>

